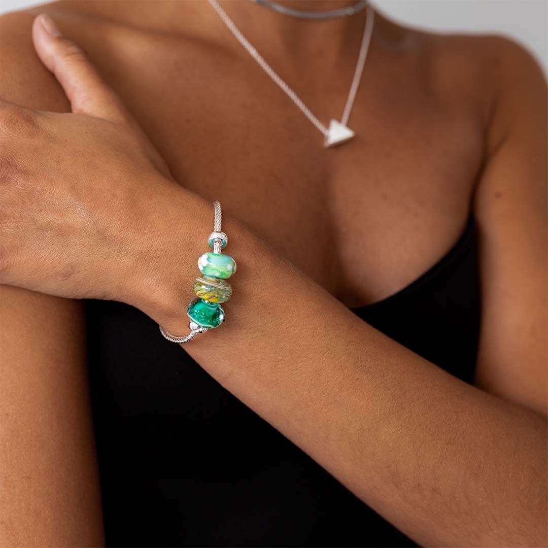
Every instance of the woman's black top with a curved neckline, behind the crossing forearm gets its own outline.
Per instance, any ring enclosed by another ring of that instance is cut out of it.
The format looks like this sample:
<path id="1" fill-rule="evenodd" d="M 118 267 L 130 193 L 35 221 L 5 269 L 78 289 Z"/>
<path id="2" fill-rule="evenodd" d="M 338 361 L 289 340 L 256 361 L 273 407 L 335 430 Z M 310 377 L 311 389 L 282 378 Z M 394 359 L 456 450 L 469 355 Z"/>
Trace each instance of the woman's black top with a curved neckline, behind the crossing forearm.
<path id="1" fill-rule="evenodd" d="M 472 381 L 476 222 L 428 271 L 357 316 Z M 131 306 L 87 301 L 107 546 L 416 546 Z"/>

